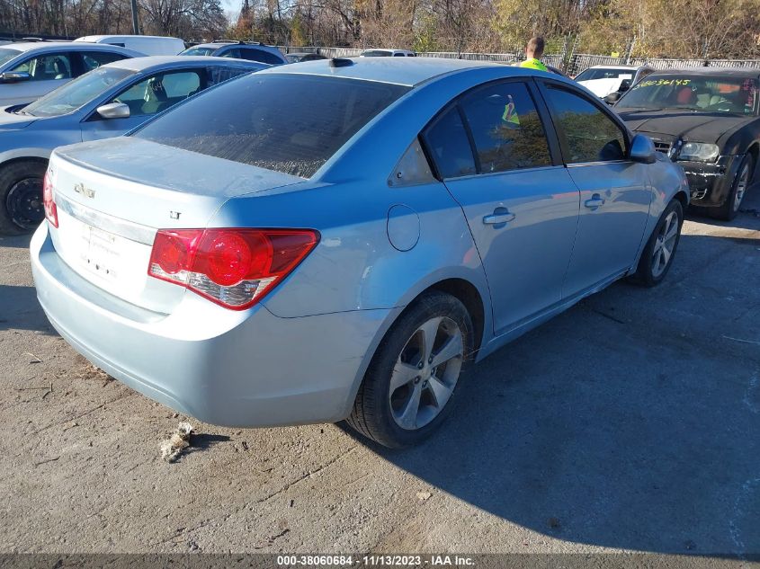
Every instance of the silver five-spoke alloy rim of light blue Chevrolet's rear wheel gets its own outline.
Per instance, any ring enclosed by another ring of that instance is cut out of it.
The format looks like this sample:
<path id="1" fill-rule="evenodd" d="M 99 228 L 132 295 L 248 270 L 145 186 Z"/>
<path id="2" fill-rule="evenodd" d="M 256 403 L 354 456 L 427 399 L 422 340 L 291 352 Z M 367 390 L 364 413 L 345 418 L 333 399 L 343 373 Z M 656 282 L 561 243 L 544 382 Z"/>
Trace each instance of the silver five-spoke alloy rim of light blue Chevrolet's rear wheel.
<path id="1" fill-rule="evenodd" d="M 462 333 L 451 318 L 431 318 L 417 328 L 390 378 L 390 411 L 399 427 L 415 431 L 441 413 L 457 385 L 463 360 Z"/>

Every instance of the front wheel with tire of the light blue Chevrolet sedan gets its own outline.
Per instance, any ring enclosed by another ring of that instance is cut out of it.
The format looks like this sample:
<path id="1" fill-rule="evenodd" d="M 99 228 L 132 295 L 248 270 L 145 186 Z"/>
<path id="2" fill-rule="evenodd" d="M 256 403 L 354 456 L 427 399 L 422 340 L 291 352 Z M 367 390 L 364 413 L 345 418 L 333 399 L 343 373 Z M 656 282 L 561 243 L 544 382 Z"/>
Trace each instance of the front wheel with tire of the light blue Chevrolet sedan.
<path id="1" fill-rule="evenodd" d="M 681 240 L 684 225 L 684 207 L 678 200 L 672 200 L 657 221 L 647 245 L 641 253 L 639 266 L 633 280 L 645 287 L 656 287 L 670 271 L 675 259 L 675 250 Z"/>

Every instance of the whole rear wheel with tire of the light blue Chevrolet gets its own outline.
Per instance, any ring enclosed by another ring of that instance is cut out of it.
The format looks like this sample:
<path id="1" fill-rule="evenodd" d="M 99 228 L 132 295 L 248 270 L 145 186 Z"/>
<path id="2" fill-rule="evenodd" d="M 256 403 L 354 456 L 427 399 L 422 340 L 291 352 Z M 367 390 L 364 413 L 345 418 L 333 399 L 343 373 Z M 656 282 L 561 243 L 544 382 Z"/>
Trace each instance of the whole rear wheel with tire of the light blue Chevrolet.
<path id="1" fill-rule="evenodd" d="M 472 331 L 459 299 L 439 291 L 418 298 L 380 342 L 346 422 L 389 448 L 425 440 L 452 411 Z"/>

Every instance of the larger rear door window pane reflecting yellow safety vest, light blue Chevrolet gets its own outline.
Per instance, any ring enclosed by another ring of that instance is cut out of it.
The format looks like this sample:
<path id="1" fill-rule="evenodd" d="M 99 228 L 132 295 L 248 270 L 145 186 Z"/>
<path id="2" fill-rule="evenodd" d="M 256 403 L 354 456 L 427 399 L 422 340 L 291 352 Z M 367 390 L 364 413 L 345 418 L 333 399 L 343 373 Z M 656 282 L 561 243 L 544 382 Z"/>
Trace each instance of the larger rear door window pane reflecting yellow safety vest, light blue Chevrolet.
<path id="1" fill-rule="evenodd" d="M 510 82 L 478 89 L 460 105 L 481 173 L 551 164 L 549 142 L 525 84 Z"/>

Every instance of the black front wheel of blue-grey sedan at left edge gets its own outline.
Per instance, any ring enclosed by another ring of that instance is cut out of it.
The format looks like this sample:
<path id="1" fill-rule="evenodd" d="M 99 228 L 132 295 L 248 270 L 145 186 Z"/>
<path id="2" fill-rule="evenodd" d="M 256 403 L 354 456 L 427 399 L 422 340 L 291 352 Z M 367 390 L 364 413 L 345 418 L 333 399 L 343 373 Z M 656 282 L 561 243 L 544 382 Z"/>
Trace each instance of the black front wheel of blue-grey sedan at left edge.
<path id="1" fill-rule="evenodd" d="M 25 160 L 0 168 L 0 235 L 31 233 L 45 218 L 42 179 L 47 165 Z"/>

